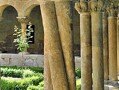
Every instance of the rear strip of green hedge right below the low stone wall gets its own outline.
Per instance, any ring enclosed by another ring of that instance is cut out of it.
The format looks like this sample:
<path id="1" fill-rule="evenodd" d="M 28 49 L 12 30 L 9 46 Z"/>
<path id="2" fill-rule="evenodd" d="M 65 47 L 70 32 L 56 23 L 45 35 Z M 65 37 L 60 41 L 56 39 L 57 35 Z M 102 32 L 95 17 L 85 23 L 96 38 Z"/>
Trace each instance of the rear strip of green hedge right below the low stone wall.
<path id="1" fill-rule="evenodd" d="M 4 77 L 25 78 L 31 76 L 39 76 L 43 73 L 40 67 L 1 67 L 1 75 Z"/>

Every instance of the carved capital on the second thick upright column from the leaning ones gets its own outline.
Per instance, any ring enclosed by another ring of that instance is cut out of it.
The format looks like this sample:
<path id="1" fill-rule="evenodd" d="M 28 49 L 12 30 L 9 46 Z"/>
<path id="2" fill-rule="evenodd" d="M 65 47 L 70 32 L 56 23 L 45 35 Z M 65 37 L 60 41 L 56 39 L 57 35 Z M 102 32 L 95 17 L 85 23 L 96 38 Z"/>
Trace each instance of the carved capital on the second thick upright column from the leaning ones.
<path id="1" fill-rule="evenodd" d="M 103 0 L 92 0 L 90 4 L 91 12 L 101 12 L 104 10 L 104 1 Z"/>

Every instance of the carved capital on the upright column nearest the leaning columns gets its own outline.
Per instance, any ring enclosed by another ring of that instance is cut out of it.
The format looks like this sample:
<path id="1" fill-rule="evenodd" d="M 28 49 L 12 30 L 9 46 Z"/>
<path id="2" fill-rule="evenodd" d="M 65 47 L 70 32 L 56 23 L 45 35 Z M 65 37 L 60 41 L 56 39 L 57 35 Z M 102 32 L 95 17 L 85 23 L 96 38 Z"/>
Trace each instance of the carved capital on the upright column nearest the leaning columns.
<path id="1" fill-rule="evenodd" d="M 80 1 L 75 3 L 75 9 L 78 11 L 78 13 L 82 12 L 88 12 L 88 1 Z"/>

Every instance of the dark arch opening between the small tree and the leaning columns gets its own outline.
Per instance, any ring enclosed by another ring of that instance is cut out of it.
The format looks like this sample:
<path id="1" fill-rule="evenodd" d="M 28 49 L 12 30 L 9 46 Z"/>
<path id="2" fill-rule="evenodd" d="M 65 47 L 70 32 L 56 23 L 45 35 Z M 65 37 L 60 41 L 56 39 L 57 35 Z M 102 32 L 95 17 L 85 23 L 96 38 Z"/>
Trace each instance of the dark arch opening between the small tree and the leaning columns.
<path id="1" fill-rule="evenodd" d="M 28 52 L 44 54 L 44 29 L 40 6 L 30 9 L 30 22 L 34 25 L 34 43 L 29 44 Z"/>

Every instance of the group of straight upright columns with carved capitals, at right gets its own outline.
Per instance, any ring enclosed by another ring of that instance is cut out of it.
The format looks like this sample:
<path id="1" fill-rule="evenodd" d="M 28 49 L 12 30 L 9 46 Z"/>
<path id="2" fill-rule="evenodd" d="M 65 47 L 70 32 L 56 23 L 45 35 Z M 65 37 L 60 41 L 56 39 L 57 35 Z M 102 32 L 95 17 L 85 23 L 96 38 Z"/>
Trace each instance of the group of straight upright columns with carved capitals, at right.
<path id="1" fill-rule="evenodd" d="M 116 81 L 119 73 L 119 20 L 114 4 L 104 9 L 103 0 L 80 0 L 75 8 L 80 14 L 81 90 L 104 90 L 104 80 Z"/>

